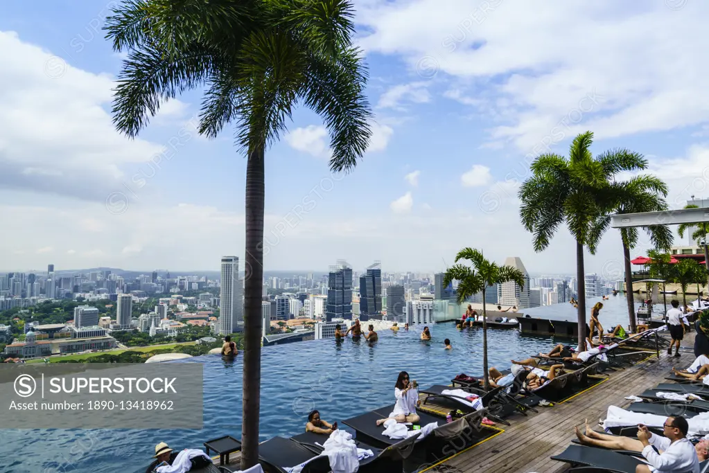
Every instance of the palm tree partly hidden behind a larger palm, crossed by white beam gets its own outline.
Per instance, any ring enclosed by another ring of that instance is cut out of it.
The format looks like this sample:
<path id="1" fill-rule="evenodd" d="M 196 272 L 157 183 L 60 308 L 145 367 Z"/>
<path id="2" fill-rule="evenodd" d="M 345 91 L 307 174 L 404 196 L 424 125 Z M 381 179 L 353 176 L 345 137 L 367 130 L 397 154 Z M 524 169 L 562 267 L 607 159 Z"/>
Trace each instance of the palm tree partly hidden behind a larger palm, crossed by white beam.
<path id="1" fill-rule="evenodd" d="M 626 214 L 635 212 L 661 212 L 667 210 L 664 198 L 667 196 L 667 185 L 656 176 L 636 176 L 630 181 L 613 183 L 611 186 L 623 193 L 619 199 L 618 207 L 612 212 L 603 215 L 593 224 L 589 248 L 593 253 L 601 235 L 610 226 L 613 213 Z M 672 244 L 672 230 L 667 225 L 654 225 L 641 227 L 647 233 L 655 249 L 669 251 Z M 627 299 L 627 316 L 630 321 L 630 331 L 635 333 L 635 301 L 632 297 L 632 270 L 630 269 L 630 250 L 635 248 L 638 240 L 637 227 L 620 229 L 620 239 L 623 241 L 623 262 L 625 263 L 625 297 Z"/>

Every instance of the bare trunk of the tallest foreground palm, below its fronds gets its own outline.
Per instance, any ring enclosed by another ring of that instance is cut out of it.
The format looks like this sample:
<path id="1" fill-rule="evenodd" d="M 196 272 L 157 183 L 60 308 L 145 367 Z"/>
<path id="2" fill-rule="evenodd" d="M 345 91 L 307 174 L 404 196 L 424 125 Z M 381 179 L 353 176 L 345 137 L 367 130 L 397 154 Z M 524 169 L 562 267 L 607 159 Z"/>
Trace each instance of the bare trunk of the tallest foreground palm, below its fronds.
<path id="1" fill-rule="evenodd" d="M 263 290 L 264 147 L 255 146 L 246 166 L 246 258 L 244 282 L 244 375 L 241 469 L 259 461 L 261 409 L 261 294 Z"/>

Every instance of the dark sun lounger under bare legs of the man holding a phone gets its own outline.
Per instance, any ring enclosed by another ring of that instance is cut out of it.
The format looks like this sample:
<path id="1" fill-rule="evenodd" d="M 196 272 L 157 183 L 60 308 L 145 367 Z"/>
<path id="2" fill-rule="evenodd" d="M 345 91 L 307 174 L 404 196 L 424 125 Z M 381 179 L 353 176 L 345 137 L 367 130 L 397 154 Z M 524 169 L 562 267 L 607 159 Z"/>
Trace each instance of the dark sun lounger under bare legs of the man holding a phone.
<path id="1" fill-rule="evenodd" d="M 586 445 L 569 445 L 566 450 L 551 458 L 568 463 L 571 467 L 569 472 L 635 473 L 637 465 L 645 464 L 631 455 Z"/>

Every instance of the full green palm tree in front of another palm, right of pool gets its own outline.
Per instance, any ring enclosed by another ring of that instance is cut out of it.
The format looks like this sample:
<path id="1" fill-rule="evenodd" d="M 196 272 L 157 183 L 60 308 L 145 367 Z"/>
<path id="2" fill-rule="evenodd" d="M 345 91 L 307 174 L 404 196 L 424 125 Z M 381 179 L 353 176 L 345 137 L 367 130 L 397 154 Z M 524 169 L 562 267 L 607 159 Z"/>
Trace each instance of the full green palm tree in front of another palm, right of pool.
<path id="1" fill-rule="evenodd" d="M 579 282 L 579 346 L 586 346 L 586 285 L 584 283 L 584 246 L 593 243 L 598 217 L 618 207 L 622 188 L 613 186 L 621 171 L 647 167 L 640 155 L 626 149 L 591 155 L 593 133 L 574 138 L 569 159 L 558 154 L 542 154 L 532 163 L 532 176 L 520 187 L 520 217 L 525 228 L 534 233 L 535 251 L 549 246 L 559 225 L 566 223 L 576 240 L 576 279 Z M 602 232 L 601 232 L 602 233 Z M 593 251 L 593 248 L 590 248 Z"/>

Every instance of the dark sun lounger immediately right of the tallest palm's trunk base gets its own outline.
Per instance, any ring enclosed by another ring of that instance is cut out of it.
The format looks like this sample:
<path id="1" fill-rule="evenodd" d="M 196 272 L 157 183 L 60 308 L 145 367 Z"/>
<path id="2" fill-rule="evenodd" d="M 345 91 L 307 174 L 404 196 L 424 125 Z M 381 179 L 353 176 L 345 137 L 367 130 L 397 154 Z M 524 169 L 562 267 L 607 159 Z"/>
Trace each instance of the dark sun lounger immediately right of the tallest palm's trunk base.
<path id="1" fill-rule="evenodd" d="M 312 459 L 315 460 L 308 462 L 302 473 L 328 473 L 330 459 L 326 456 L 315 458 L 319 455 L 320 451 L 316 448 L 308 448 L 283 437 L 274 437 L 259 444 L 259 463 L 267 473 L 285 473 L 286 468 Z"/>

